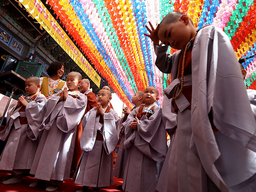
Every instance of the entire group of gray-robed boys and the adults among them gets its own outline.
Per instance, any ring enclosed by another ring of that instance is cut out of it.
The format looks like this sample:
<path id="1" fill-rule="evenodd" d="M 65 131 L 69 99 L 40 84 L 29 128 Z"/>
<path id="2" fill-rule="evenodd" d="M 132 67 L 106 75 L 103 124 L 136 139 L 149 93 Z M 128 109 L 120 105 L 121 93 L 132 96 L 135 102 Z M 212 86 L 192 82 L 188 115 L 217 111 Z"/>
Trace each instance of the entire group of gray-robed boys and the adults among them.
<path id="1" fill-rule="evenodd" d="M 156 66 L 172 74 L 162 108 L 158 90 L 149 86 L 135 93 L 134 108 L 125 107 L 118 118 L 109 87 L 96 97 L 78 72 L 62 82 L 65 67 L 56 62 L 51 78 L 27 78 L 28 95 L 9 108 L 0 132 L 7 140 L 0 170 L 12 176 L 3 184 L 30 175 L 38 179 L 30 187 L 56 191 L 72 176 L 83 186 L 77 192 L 87 192 L 113 185 L 116 176 L 126 192 L 256 189 L 256 94 L 246 92 L 246 71 L 230 40 L 214 26 L 197 30 L 179 12 L 150 27 L 145 35 L 154 43 Z M 180 51 L 168 54 L 168 46 Z"/>

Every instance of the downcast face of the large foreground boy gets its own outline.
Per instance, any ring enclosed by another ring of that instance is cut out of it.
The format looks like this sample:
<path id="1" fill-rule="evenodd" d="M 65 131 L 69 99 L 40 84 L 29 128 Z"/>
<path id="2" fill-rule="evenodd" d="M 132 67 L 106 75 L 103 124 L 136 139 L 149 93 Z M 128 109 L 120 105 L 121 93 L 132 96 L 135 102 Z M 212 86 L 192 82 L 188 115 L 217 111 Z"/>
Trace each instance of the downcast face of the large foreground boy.
<path id="1" fill-rule="evenodd" d="M 189 19 L 183 18 L 179 19 L 175 23 L 167 24 L 166 26 L 162 26 L 158 30 L 158 38 L 165 45 L 169 45 L 174 49 L 185 49 L 186 44 L 190 41 L 191 38 L 191 30 Z"/>

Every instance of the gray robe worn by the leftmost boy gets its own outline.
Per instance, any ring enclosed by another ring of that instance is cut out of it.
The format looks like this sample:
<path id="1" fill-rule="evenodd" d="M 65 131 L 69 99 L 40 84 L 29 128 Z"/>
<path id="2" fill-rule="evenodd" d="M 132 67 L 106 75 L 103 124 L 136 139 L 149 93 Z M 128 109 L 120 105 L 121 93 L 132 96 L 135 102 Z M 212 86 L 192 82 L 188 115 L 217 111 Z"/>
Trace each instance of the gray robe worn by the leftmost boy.
<path id="1" fill-rule="evenodd" d="M 7 125 L 0 132 L 0 139 L 7 143 L 0 157 L 0 170 L 30 169 L 38 146 L 40 136 L 38 128 L 43 122 L 46 112 L 46 98 L 39 94 L 29 102 L 25 112 L 10 112 L 16 103 L 12 104 L 7 114 Z M 28 124 L 20 124 L 19 117 L 26 117 Z"/>

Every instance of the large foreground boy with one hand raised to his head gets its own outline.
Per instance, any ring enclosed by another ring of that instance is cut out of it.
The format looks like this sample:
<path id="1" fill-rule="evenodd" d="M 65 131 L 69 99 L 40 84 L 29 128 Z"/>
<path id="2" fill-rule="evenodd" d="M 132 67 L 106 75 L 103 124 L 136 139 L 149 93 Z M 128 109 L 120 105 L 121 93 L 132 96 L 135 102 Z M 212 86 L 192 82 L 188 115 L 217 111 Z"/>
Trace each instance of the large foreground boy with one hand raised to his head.
<path id="1" fill-rule="evenodd" d="M 156 66 L 172 74 L 164 92 L 178 113 L 168 188 L 253 191 L 256 158 L 248 148 L 256 151 L 256 122 L 228 36 L 214 26 L 198 31 L 179 12 L 151 28 Z M 167 54 L 168 45 L 180 51 Z"/>

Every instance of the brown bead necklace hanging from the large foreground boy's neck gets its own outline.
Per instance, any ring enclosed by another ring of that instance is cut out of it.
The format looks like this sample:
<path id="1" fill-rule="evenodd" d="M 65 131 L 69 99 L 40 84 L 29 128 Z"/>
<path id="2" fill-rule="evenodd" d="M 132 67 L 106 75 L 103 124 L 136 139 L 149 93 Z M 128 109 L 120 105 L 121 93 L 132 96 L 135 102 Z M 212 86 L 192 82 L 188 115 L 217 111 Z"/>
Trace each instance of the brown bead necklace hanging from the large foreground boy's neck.
<path id="1" fill-rule="evenodd" d="M 197 32 L 196 32 L 196 34 L 197 34 Z M 183 52 L 183 58 L 182 58 L 182 71 L 181 71 L 180 91 L 179 91 L 178 94 L 176 95 L 176 92 L 177 92 L 177 89 L 178 89 L 178 86 L 179 86 L 179 84 L 177 84 L 177 85 L 175 86 L 174 93 L 173 93 L 173 96 L 172 96 L 173 99 L 177 99 L 177 98 L 180 96 L 180 94 L 182 93 L 183 84 L 184 84 L 184 70 L 185 70 L 186 53 L 187 53 L 187 50 L 188 50 L 188 46 L 190 46 L 192 40 L 194 40 L 194 38 L 196 37 L 196 34 L 195 34 L 195 35 L 190 39 L 190 41 L 186 44 L 185 50 L 182 51 L 182 52 Z M 182 52 L 181 52 L 181 54 L 180 54 L 180 60 L 181 60 Z M 179 78 L 180 60 L 179 60 L 179 65 L 178 65 L 178 74 L 177 74 L 177 78 Z"/>

